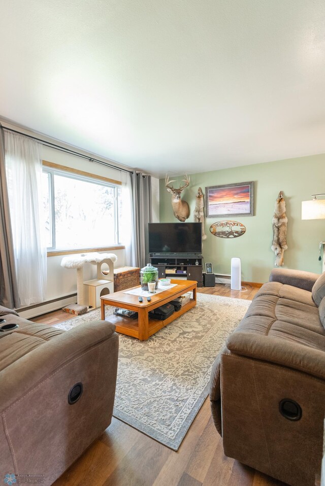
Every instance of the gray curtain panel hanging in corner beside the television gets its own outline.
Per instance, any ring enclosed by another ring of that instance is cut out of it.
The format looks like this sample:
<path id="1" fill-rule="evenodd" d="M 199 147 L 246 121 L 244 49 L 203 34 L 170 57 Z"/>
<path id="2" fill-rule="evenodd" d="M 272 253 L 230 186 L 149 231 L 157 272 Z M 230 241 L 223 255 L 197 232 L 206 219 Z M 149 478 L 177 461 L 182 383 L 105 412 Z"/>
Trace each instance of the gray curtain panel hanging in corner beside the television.
<path id="1" fill-rule="evenodd" d="M 149 260 L 148 223 L 152 222 L 151 176 L 135 170 L 131 175 L 135 228 L 135 265 L 144 267 Z"/>

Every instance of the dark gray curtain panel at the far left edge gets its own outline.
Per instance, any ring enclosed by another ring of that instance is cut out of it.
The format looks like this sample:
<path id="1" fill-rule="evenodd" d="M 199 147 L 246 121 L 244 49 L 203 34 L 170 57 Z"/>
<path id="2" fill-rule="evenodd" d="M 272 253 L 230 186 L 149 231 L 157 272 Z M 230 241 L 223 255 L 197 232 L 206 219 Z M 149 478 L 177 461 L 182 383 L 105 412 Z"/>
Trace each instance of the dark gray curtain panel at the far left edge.
<path id="1" fill-rule="evenodd" d="M 11 309 L 20 305 L 9 212 L 3 128 L 0 129 L 0 304 Z"/>

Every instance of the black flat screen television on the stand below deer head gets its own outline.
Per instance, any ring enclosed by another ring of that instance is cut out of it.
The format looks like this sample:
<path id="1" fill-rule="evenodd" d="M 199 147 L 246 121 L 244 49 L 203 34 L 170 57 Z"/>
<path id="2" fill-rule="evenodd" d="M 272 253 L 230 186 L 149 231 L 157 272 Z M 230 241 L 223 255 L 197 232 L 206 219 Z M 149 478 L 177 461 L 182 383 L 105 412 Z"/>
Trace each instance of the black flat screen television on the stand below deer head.
<path id="1" fill-rule="evenodd" d="M 202 253 L 201 223 L 149 223 L 149 253 Z"/>

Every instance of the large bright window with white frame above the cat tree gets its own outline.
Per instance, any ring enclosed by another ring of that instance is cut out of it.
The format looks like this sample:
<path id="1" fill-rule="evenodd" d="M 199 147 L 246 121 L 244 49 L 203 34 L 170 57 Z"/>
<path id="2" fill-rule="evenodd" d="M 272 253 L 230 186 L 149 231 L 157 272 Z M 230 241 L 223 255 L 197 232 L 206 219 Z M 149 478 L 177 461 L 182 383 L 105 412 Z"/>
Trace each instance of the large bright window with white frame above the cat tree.
<path id="1" fill-rule="evenodd" d="M 48 250 L 119 244 L 120 186 L 44 167 L 42 190 Z"/>

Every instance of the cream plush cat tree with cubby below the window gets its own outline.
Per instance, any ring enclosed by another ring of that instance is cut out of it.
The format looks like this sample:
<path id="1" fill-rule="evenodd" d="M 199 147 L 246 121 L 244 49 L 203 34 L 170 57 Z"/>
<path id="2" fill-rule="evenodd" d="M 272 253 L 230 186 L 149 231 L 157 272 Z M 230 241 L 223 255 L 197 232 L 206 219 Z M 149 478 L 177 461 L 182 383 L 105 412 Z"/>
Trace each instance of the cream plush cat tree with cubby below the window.
<path id="1" fill-rule="evenodd" d="M 64 268 L 76 268 L 77 270 L 77 304 L 64 307 L 63 310 L 72 314 L 84 314 L 87 306 L 99 307 L 100 296 L 114 292 L 114 262 L 117 256 L 114 253 L 81 253 L 63 257 L 61 266 Z M 97 265 L 97 278 L 84 282 L 83 266 L 85 263 Z M 102 270 L 103 265 L 108 270 Z"/>

